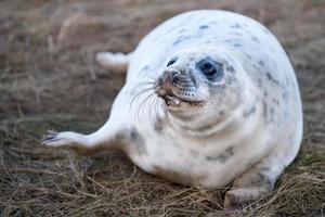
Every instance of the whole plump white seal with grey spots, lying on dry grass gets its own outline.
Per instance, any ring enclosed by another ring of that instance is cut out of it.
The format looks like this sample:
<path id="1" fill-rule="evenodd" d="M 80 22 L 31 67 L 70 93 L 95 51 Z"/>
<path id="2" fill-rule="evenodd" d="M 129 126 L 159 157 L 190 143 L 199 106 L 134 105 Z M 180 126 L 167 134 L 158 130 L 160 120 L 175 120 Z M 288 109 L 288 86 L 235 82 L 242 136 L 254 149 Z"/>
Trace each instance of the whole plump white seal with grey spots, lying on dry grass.
<path id="1" fill-rule="evenodd" d="M 302 137 L 299 89 L 275 37 L 224 11 L 178 15 L 134 52 L 100 53 L 128 66 L 107 123 L 88 136 L 50 132 L 43 143 L 81 154 L 123 150 L 139 167 L 171 181 L 223 188 L 225 208 L 273 189 Z"/>

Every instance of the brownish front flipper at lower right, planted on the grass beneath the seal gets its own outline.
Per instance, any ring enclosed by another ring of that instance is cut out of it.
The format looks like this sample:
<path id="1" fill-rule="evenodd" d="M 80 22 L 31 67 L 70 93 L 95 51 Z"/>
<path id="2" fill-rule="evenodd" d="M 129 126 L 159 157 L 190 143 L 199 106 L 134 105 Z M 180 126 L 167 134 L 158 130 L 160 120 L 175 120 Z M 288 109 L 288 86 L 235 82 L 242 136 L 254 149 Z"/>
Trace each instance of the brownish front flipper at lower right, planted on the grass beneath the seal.
<path id="1" fill-rule="evenodd" d="M 266 196 L 274 188 L 276 178 L 285 165 L 278 158 L 264 158 L 235 179 L 233 187 L 225 193 L 224 209 L 249 210 L 258 199 Z"/>

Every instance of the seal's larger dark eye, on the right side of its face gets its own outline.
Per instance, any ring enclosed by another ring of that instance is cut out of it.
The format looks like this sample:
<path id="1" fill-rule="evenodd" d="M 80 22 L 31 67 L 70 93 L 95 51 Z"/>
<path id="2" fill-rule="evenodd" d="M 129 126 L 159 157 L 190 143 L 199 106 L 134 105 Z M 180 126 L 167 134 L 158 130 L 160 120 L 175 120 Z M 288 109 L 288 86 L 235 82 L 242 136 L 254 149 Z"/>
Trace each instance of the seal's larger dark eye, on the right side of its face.
<path id="1" fill-rule="evenodd" d="M 210 81 L 220 81 L 223 77 L 223 67 L 221 63 L 210 58 L 205 58 L 196 63 L 196 69 L 202 72 Z"/>

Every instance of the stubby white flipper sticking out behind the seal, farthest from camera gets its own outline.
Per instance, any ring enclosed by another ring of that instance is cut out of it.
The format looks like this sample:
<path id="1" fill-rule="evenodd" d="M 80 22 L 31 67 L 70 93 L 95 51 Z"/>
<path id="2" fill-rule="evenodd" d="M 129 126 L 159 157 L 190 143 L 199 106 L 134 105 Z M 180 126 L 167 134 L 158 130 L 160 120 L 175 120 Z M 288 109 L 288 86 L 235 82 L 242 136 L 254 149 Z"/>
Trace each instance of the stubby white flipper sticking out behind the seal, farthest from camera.
<path id="1" fill-rule="evenodd" d="M 100 52 L 96 54 L 98 63 L 104 68 L 126 73 L 128 69 L 128 65 L 132 53 L 112 53 L 112 52 Z"/>

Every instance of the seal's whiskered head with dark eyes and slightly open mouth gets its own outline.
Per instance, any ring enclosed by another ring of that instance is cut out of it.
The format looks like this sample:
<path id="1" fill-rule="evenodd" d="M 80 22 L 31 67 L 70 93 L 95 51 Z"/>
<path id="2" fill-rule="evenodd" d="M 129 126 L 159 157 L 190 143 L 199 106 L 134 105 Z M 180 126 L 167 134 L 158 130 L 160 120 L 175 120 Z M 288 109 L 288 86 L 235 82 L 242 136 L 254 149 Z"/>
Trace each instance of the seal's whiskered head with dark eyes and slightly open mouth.
<path id="1" fill-rule="evenodd" d="M 204 50 L 204 49 L 203 49 Z M 240 67 L 223 51 L 185 50 L 173 54 L 155 81 L 155 91 L 176 117 L 222 116 L 240 102 Z"/>

